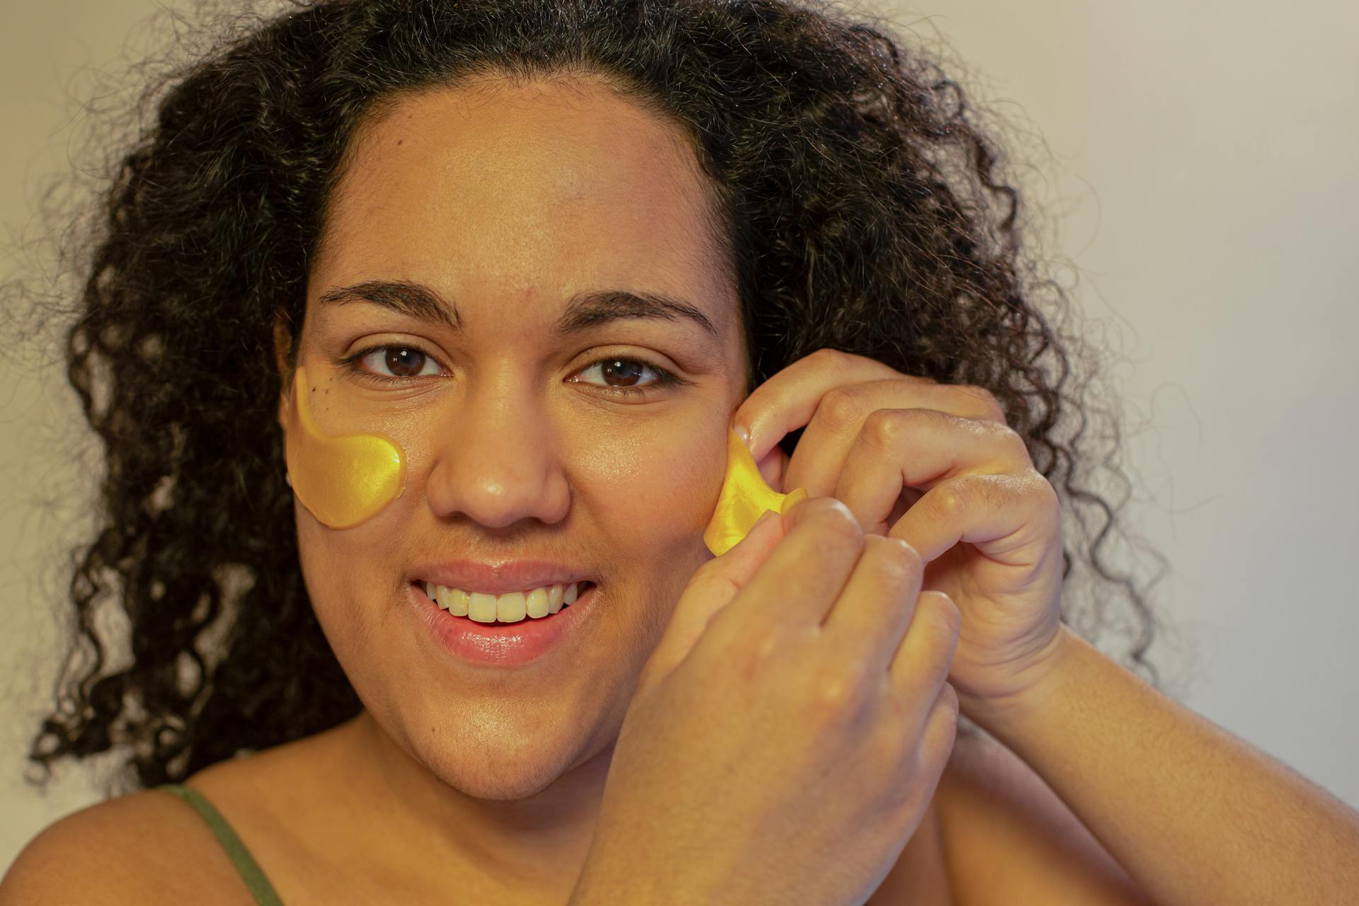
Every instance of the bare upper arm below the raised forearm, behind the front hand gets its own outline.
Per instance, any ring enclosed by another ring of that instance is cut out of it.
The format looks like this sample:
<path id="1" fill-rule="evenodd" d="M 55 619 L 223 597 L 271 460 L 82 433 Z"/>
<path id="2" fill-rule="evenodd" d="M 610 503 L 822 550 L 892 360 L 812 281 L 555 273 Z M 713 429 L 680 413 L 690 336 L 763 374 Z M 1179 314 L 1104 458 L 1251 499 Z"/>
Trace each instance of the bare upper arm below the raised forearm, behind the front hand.
<path id="1" fill-rule="evenodd" d="M 984 731 L 959 725 L 935 801 L 957 903 L 1152 902 L 1046 781 Z"/>

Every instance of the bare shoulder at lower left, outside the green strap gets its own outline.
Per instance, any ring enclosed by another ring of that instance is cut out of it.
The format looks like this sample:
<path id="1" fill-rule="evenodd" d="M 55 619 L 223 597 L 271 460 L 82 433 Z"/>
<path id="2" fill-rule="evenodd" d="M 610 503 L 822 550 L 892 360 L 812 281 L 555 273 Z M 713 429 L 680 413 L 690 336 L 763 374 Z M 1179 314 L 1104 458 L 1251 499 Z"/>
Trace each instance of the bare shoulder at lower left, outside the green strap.
<path id="1" fill-rule="evenodd" d="M 234 873 L 188 803 L 147 789 L 87 805 L 45 827 L 0 880 L 0 906 L 239 903 L 231 896 Z"/>

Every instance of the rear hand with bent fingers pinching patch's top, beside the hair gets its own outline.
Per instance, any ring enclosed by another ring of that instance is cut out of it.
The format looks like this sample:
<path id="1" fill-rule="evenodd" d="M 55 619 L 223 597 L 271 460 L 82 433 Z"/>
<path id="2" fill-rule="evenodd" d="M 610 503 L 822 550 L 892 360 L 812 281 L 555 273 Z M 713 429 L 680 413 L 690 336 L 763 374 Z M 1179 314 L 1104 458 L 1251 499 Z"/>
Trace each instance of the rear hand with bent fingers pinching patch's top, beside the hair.
<path id="1" fill-rule="evenodd" d="M 819 349 L 756 387 L 731 425 L 775 490 L 836 497 L 866 532 L 916 549 L 921 590 L 962 615 L 949 682 L 964 713 L 1046 674 L 1063 638 L 1057 492 L 989 391 Z M 788 458 L 777 443 L 803 425 Z"/>

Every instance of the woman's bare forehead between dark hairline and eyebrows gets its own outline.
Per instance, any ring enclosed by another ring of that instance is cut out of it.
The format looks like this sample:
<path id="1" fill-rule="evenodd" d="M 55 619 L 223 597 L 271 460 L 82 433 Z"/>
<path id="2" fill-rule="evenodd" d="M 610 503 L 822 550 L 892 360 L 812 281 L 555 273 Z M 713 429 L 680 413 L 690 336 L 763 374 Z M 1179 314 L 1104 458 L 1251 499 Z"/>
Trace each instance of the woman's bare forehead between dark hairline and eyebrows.
<path id="1" fill-rule="evenodd" d="M 735 314 L 692 149 L 605 87 L 410 95 L 351 160 L 308 299 L 400 276 L 499 311 L 631 287 L 696 299 L 715 322 Z"/>

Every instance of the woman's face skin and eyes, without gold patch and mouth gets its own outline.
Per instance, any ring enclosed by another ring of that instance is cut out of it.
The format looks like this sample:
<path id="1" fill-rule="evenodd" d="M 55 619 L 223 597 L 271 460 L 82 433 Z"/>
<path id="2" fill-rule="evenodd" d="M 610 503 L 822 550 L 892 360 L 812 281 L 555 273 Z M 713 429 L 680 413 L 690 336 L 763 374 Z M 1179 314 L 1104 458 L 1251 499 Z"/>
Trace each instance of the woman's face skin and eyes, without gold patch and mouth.
<path id="1" fill-rule="evenodd" d="M 298 361 L 318 429 L 390 436 L 406 484 L 352 528 L 298 503 L 303 575 L 340 663 L 402 750 L 478 799 L 529 796 L 613 742 L 711 556 L 701 535 L 745 395 L 735 287 L 681 133 L 601 83 L 408 96 L 355 151 Z M 321 302 L 368 281 L 428 288 L 447 322 L 382 293 Z M 575 293 L 598 289 L 684 300 L 712 329 L 685 316 L 554 329 Z M 447 560 L 571 565 L 597 584 L 594 613 L 529 664 L 462 662 L 412 603 L 420 565 Z"/>

